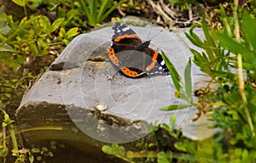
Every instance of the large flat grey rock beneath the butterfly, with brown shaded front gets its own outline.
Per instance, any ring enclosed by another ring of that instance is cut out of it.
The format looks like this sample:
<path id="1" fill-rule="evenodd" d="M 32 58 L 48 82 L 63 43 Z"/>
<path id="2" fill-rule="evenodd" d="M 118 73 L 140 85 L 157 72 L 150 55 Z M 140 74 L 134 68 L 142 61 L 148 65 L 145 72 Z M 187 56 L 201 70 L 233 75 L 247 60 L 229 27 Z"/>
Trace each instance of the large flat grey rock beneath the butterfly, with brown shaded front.
<path id="1" fill-rule="evenodd" d="M 143 40 L 147 40 L 150 28 L 149 38 L 162 29 L 129 26 Z M 201 29 L 195 31 L 203 36 Z M 100 149 L 105 143 L 129 143 L 143 138 L 150 123 L 168 124 L 171 115 L 177 116 L 176 126 L 183 127 L 186 137 L 203 139 L 218 132 L 207 129 L 204 118 L 190 122 L 196 108 L 160 111 L 169 104 L 184 103 L 175 98 L 171 77 L 134 79 L 122 75 L 108 59 L 112 34 L 108 26 L 73 39 L 26 93 L 17 110 L 20 128 L 53 126 L 52 130 L 25 133 L 26 141 L 59 139 L 71 141 L 79 149 L 86 150 L 88 146 Z M 195 48 L 183 32 L 166 30 L 154 37 L 149 47 L 163 50 L 181 76 L 192 56 L 189 47 Z M 194 65 L 192 77 L 194 88 L 205 86 L 207 77 Z"/>

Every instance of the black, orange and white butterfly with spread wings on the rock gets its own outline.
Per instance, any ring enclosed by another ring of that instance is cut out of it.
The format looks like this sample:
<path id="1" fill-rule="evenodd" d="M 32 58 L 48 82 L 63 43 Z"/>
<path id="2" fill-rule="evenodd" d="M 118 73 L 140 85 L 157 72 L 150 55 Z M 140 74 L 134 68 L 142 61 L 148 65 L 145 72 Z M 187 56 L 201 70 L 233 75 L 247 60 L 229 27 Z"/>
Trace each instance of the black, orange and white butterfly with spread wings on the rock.
<path id="1" fill-rule="evenodd" d="M 126 76 L 170 74 L 160 53 L 148 48 L 150 40 L 143 42 L 135 31 L 119 22 L 115 22 L 112 29 L 113 37 L 108 55 Z"/>

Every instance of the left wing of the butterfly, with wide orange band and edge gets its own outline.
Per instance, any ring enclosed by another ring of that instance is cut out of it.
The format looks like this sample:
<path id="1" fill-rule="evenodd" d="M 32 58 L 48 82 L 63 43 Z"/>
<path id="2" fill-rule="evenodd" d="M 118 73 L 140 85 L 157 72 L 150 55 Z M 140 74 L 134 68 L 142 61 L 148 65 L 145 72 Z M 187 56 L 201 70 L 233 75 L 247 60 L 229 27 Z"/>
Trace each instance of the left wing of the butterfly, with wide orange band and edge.
<path id="1" fill-rule="evenodd" d="M 134 49 L 143 41 L 135 31 L 122 23 L 115 22 L 112 29 L 112 44 L 108 49 L 108 54 L 113 64 L 119 66 L 126 76 L 137 77 L 145 74 L 141 64 L 137 66 L 134 62 L 137 58 L 141 58 L 139 52 Z"/>

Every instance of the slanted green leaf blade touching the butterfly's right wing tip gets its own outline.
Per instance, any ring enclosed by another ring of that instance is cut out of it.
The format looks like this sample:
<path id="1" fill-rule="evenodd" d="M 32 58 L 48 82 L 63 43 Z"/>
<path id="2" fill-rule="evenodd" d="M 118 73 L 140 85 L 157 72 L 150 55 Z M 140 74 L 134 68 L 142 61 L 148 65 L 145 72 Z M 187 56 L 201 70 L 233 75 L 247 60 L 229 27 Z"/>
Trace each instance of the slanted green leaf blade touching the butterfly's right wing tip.
<path id="1" fill-rule="evenodd" d="M 166 63 L 166 67 L 168 70 L 170 70 L 170 74 L 172 76 L 172 82 L 174 86 L 176 87 L 177 91 L 180 91 L 181 89 L 181 77 L 178 75 L 177 70 L 175 69 L 174 65 L 172 65 L 172 62 L 166 57 L 166 54 L 161 51 L 162 57 Z"/>

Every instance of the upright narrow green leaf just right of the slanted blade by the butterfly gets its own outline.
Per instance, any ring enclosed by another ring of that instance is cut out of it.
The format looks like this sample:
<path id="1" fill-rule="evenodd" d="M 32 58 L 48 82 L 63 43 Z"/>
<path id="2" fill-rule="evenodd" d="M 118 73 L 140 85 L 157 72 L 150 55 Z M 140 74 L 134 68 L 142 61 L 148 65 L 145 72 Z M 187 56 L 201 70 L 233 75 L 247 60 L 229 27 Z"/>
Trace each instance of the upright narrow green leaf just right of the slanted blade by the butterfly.
<path id="1" fill-rule="evenodd" d="M 188 64 L 184 70 L 184 80 L 185 80 L 185 92 L 187 97 L 192 102 L 192 80 L 191 80 L 191 59 L 189 59 Z"/>

